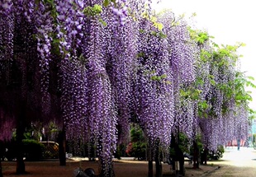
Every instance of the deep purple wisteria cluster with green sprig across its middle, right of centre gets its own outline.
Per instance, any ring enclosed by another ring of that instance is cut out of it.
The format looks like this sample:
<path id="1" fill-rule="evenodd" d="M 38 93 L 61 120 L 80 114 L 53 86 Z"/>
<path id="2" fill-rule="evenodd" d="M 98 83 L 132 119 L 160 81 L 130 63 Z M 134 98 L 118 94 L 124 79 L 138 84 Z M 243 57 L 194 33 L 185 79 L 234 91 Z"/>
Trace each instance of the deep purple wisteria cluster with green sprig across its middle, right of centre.
<path id="1" fill-rule="evenodd" d="M 149 142 L 170 142 L 173 127 L 173 75 L 168 40 L 151 22 L 140 22 L 134 110 Z"/>

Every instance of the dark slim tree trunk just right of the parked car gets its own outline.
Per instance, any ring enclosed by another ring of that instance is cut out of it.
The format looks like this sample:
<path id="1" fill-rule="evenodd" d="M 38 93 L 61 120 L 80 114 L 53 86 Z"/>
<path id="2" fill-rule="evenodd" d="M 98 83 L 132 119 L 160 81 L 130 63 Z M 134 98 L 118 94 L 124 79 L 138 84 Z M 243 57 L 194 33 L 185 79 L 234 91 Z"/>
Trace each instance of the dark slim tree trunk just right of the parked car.
<path id="1" fill-rule="evenodd" d="M 60 131 L 58 135 L 59 143 L 59 165 L 66 165 L 66 133 L 65 131 Z"/>

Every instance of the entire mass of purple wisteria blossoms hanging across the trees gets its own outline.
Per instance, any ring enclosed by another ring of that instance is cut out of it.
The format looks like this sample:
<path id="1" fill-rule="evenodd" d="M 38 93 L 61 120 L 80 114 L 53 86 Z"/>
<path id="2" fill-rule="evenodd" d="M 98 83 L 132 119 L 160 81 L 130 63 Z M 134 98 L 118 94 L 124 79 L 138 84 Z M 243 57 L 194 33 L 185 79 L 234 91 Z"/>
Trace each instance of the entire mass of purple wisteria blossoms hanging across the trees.
<path id="1" fill-rule="evenodd" d="M 0 139 L 10 138 L 2 128 L 11 130 L 17 116 L 2 109 L 12 105 L 10 95 L 41 119 L 63 122 L 69 140 L 95 143 L 105 176 L 130 121 L 163 151 L 171 133 L 195 137 L 197 126 L 212 150 L 229 128 L 227 138 L 244 137 L 234 56 L 193 39 L 172 12 L 156 20 L 150 3 L 1 0 Z"/>

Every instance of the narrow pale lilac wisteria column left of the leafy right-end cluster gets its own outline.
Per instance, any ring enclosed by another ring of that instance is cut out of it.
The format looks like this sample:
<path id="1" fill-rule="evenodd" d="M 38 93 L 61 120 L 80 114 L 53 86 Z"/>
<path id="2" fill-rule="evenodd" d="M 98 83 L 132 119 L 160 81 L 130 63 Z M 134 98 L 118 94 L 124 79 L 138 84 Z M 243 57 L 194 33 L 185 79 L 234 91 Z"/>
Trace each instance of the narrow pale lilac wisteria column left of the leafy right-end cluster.
<path id="1" fill-rule="evenodd" d="M 174 16 L 173 12 L 164 12 L 159 16 L 159 21 L 164 26 L 163 32 L 167 35 L 168 49 L 171 51 L 169 65 L 173 74 L 173 105 L 175 105 L 173 133 L 181 131 L 192 137 L 192 125 L 197 119 L 194 115 L 194 102 L 189 94 L 183 96 L 181 91 L 195 82 L 195 63 L 200 50 L 190 36 L 186 21 Z"/>

